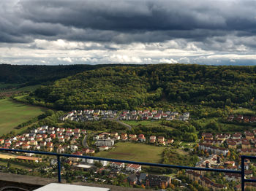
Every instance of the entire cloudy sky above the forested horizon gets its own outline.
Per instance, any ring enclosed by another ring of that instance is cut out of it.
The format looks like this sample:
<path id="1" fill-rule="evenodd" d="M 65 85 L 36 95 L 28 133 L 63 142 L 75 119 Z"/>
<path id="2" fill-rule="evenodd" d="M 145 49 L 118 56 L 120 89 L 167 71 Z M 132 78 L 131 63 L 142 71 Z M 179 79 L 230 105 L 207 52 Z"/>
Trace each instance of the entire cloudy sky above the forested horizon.
<path id="1" fill-rule="evenodd" d="M 256 1 L 1 0 L 0 63 L 256 65 Z"/>

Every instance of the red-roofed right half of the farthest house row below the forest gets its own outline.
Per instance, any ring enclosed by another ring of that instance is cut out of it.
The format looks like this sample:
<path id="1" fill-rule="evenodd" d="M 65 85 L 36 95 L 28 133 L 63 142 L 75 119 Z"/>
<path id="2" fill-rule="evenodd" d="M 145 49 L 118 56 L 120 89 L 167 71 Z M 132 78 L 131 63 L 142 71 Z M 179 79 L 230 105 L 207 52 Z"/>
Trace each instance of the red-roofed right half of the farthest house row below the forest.
<path id="1" fill-rule="evenodd" d="M 119 114 L 119 120 L 189 120 L 189 112 L 179 114 L 178 112 L 162 111 L 162 110 L 124 110 Z"/>

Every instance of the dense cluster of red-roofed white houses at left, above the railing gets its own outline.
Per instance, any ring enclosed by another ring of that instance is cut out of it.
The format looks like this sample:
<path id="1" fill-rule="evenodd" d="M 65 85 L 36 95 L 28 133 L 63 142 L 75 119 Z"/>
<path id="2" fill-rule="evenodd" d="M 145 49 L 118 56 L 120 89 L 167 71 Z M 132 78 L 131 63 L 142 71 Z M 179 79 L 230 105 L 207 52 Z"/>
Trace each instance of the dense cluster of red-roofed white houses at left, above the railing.
<path id="1" fill-rule="evenodd" d="M 86 130 L 54 128 L 44 125 L 31 130 L 30 133 L 23 133 L 23 135 L 10 139 L 0 139 L 0 145 L 8 149 L 33 149 L 48 152 L 56 150 L 58 153 L 75 152 L 78 150 L 78 139 L 82 134 L 86 134 Z M 56 144 L 53 144 L 53 141 Z M 91 150 L 91 152 L 94 151 Z"/>

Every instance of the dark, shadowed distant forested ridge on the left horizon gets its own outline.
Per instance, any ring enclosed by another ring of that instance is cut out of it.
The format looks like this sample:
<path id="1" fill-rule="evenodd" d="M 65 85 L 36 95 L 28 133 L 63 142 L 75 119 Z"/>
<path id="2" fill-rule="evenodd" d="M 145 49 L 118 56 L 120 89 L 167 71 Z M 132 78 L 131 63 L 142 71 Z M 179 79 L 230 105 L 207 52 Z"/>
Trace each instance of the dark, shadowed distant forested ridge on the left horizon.
<path id="1" fill-rule="evenodd" d="M 38 85 L 53 82 L 82 71 L 116 65 L 67 65 L 67 66 L 36 66 L 0 64 L 0 82 L 20 85 Z"/>

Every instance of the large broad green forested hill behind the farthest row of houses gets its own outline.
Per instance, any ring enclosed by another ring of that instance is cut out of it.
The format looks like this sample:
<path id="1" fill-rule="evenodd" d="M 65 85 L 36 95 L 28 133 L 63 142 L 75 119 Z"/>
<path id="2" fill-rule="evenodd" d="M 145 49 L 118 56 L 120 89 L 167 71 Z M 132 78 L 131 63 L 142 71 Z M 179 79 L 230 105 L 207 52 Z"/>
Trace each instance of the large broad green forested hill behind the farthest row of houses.
<path id="1" fill-rule="evenodd" d="M 42 86 L 31 104 L 57 109 L 134 109 L 187 102 L 255 109 L 256 67 L 158 64 L 84 71 Z"/>

